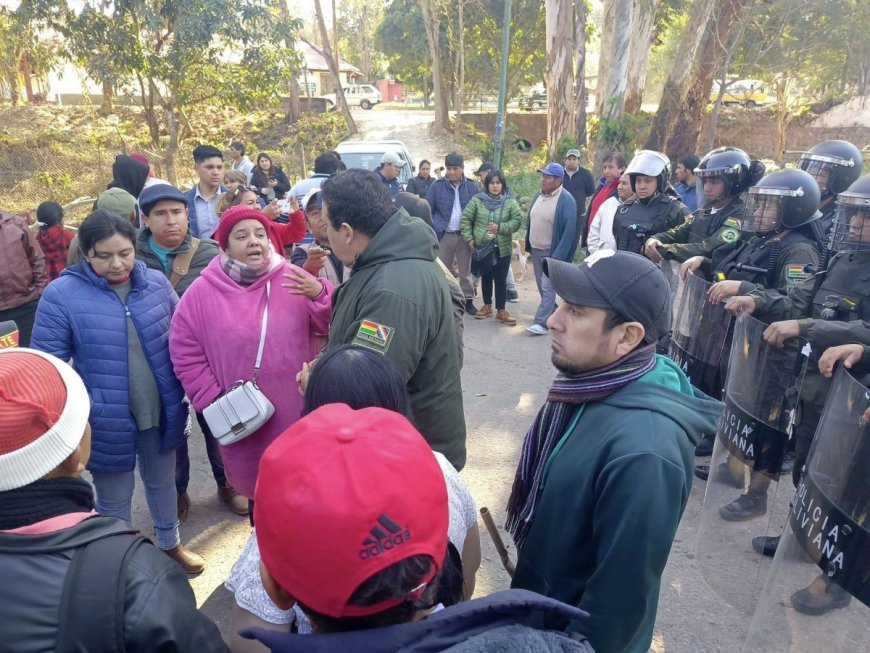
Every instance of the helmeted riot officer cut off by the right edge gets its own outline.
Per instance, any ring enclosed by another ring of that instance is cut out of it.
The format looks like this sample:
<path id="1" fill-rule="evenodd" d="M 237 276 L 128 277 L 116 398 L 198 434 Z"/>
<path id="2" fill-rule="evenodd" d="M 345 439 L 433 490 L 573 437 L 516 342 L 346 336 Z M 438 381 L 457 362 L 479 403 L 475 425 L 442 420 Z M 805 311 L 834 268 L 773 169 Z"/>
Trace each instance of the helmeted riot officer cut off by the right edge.
<path id="1" fill-rule="evenodd" d="M 772 322 L 765 331 L 767 342 L 782 345 L 802 336 L 812 345 L 813 358 L 829 347 L 846 343 L 870 345 L 870 175 L 853 183 L 837 197 L 832 248 L 837 252 L 827 269 L 792 287 L 787 295 L 754 289 L 734 297 L 731 312 L 747 311 Z M 821 417 L 830 382 L 817 365 L 808 368 L 801 388 L 800 419 L 796 422 L 795 465 L 797 485 L 806 462 L 813 434 Z M 753 546 L 773 555 L 779 538 L 756 538 Z"/>

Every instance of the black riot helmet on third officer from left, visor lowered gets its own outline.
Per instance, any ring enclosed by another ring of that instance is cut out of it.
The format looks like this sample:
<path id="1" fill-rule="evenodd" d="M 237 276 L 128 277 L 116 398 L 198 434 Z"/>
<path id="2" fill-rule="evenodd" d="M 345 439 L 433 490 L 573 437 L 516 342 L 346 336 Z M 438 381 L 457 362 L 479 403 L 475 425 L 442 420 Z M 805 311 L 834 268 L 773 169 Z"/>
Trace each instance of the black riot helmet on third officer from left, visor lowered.
<path id="1" fill-rule="evenodd" d="M 795 229 L 821 217 L 821 193 L 803 170 L 786 168 L 767 175 L 749 189 L 743 230 L 765 234 Z"/>

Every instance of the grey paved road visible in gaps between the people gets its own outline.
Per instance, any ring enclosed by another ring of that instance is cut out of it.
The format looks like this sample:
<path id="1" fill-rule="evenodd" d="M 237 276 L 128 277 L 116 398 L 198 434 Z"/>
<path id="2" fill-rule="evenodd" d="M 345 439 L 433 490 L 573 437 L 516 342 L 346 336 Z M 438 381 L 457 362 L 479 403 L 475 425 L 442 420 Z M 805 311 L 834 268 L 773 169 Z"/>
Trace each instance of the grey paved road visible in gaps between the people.
<path id="1" fill-rule="evenodd" d="M 431 114 L 377 110 L 355 113 L 368 137 L 400 138 L 415 158 L 434 158 L 452 149 L 449 142 L 428 141 L 426 123 Z M 514 265 L 519 272 L 518 264 Z M 520 303 L 509 305 L 519 320 L 518 326 L 473 319 L 467 319 L 465 326 L 462 383 L 468 466 L 462 476 L 478 506 L 488 506 L 500 524 L 523 436 L 554 377 L 548 338 L 530 336 L 524 329 L 531 323 L 537 305 L 531 268 L 519 288 Z M 191 445 L 193 506 L 182 526 L 182 537 L 206 558 L 206 572 L 193 579 L 192 585 L 199 604 L 226 634 L 232 599 L 222 583 L 250 529 L 245 518 L 230 514 L 217 500 L 202 435 L 194 434 Z M 739 651 L 743 629 L 748 625 L 745 616 L 715 597 L 694 563 L 703 492 L 704 485 L 696 482 L 665 570 L 653 645 L 656 652 Z M 137 488 L 134 523 L 143 532 L 151 530 L 141 488 Z M 509 584 L 489 538 L 481 530 L 484 559 L 478 575 L 478 595 Z M 509 538 L 505 537 L 505 541 Z"/>

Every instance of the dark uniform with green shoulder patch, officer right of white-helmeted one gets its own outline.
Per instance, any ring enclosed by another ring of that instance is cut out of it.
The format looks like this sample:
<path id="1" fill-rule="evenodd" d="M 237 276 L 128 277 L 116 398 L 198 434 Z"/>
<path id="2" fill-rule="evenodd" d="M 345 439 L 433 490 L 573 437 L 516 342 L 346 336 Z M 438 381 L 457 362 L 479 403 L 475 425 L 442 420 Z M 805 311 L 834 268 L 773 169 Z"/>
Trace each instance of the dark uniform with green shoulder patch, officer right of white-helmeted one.
<path id="1" fill-rule="evenodd" d="M 653 236 L 662 243 L 658 250 L 667 260 L 682 263 L 693 256 L 709 256 L 723 245 L 740 240 L 743 201 L 735 197 L 723 209 L 698 209 L 684 223 Z"/>

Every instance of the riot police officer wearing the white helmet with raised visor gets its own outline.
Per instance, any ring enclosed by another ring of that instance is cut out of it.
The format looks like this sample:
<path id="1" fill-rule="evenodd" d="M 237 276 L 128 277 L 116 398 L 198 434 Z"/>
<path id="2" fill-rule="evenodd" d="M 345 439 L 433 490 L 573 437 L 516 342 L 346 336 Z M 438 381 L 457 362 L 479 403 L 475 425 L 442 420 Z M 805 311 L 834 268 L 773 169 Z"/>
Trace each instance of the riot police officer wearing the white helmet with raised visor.
<path id="1" fill-rule="evenodd" d="M 634 196 L 620 206 L 613 218 L 616 249 L 636 254 L 652 234 L 685 222 L 689 209 L 666 191 L 671 164 L 661 152 L 641 150 L 625 169 Z"/>

